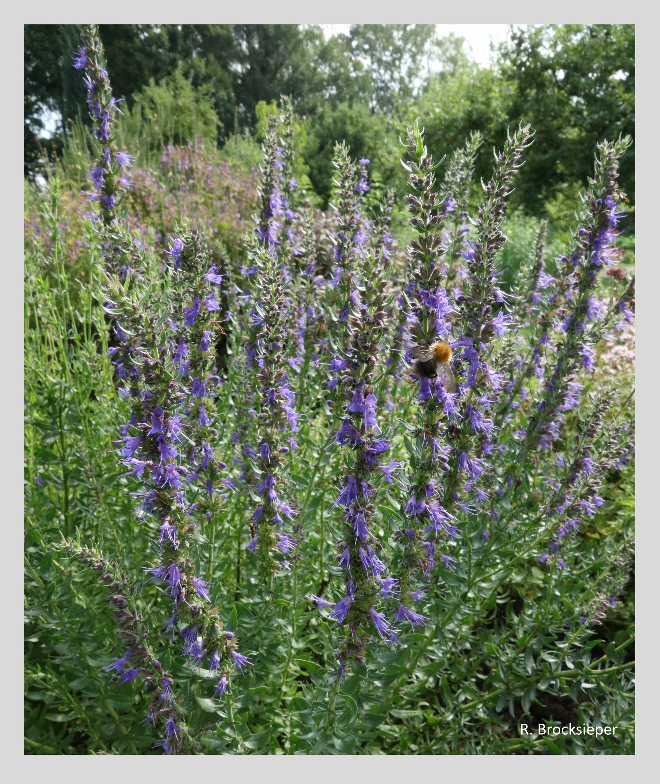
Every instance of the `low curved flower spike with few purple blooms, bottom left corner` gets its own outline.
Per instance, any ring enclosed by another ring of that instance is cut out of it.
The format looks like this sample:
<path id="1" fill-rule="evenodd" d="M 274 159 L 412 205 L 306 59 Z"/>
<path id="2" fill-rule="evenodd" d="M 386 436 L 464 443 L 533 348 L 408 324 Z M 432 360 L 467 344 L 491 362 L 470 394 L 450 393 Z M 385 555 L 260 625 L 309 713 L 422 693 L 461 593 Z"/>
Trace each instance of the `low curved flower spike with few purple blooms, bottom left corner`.
<path id="1" fill-rule="evenodd" d="M 124 644 L 130 645 L 130 648 L 121 658 L 113 659 L 111 664 L 103 669 L 111 672 L 113 680 L 121 684 L 142 677 L 147 689 L 154 690 L 147 712 L 147 722 L 154 727 L 162 724 L 165 735 L 156 746 L 162 746 L 166 754 L 198 753 L 198 744 L 192 741 L 185 723 L 186 712 L 180 705 L 180 698 L 172 691 L 172 675 L 163 670 L 150 644 L 151 630 L 140 615 L 135 600 L 135 586 L 129 583 L 127 575 L 116 561 L 108 561 L 93 547 L 81 545 L 79 540 L 63 537 L 56 549 L 63 550 L 67 555 L 92 568 L 99 575 L 97 582 L 112 592 L 107 601 L 114 610 L 118 625 L 117 636 Z"/>

